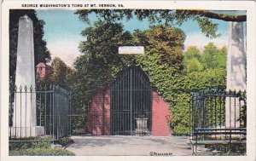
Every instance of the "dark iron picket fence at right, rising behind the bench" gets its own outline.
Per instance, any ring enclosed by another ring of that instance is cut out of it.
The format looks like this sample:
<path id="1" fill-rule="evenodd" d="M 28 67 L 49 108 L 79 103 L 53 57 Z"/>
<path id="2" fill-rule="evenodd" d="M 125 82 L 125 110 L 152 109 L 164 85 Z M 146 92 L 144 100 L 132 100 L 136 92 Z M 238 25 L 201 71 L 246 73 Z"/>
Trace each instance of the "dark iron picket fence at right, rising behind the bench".
<path id="1" fill-rule="evenodd" d="M 246 93 L 203 89 L 192 93 L 192 129 L 245 128 Z"/>

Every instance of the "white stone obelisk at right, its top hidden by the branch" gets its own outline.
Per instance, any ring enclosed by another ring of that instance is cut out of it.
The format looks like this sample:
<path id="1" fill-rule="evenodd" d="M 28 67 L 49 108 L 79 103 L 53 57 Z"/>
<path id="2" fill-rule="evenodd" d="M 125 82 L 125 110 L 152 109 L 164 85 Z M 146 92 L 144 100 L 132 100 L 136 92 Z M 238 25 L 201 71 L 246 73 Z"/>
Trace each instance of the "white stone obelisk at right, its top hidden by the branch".
<path id="1" fill-rule="evenodd" d="M 227 90 L 245 91 L 246 83 L 246 51 L 242 22 L 230 22 L 230 37 L 227 56 Z M 235 105 L 236 103 L 236 105 Z M 231 105 L 231 106 L 230 106 Z M 235 117 L 236 106 L 236 117 Z M 226 127 L 238 128 L 239 101 L 232 98 L 226 101 Z M 242 106 L 242 105 L 241 105 Z M 231 110 L 230 110 L 231 108 Z M 231 121 L 230 121 L 231 120 Z M 230 124 L 231 122 L 231 124 Z M 236 124 L 235 124 L 236 123 Z"/>

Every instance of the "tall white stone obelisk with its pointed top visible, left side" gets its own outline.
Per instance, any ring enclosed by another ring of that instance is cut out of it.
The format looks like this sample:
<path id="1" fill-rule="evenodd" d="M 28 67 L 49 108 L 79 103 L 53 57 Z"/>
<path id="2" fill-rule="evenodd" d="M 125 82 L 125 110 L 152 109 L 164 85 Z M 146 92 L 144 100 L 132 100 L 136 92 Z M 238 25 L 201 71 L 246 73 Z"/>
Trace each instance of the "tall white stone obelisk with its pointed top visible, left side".
<path id="1" fill-rule="evenodd" d="M 17 93 L 14 102 L 13 127 L 10 128 L 11 136 L 44 135 L 44 127 L 37 126 L 33 25 L 27 15 L 20 17 L 19 20 L 15 85 Z"/>

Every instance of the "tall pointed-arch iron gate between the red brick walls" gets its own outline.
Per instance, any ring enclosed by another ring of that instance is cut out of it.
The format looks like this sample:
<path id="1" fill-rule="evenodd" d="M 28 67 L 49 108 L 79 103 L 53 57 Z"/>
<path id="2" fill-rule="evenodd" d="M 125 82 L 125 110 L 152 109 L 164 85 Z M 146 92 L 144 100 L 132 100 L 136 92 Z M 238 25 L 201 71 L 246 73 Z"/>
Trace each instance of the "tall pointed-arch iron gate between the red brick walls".
<path id="1" fill-rule="evenodd" d="M 110 97 L 112 135 L 151 133 L 152 91 L 145 72 L 137 66 L 119 72 L 110 85 Z"/>

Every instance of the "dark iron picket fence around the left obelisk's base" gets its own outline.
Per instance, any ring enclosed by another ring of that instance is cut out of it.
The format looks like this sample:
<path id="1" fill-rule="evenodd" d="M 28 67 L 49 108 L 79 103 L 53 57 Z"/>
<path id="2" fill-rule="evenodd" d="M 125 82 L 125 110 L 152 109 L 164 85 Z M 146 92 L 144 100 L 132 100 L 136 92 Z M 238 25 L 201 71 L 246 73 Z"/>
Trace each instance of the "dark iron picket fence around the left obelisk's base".
<path id="1" fill-rule="evenodd" d="M 70 135 L 71 93 L 58 85 L 10 87 L 9 141 Z"/>

